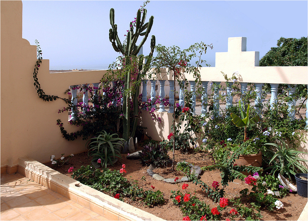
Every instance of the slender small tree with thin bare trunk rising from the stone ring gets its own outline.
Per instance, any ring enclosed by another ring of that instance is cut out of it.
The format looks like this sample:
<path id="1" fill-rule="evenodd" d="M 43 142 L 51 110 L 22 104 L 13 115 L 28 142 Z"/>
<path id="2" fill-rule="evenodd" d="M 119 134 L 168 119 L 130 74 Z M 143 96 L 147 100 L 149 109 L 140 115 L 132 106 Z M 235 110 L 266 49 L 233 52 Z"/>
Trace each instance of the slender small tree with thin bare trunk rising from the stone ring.
<path id="1" fill-rule="evenodd" d="M 200 81 L 200 71 L 197 67 L 202 67 L 200 63 L 206 62 L 201 59 L 201 55 L 206 53 L 207 47 L 212 48 L 212 45 L 206 45 L 204 43 L 195 43 L 191 45 L 188 49 L 181 50 L 178 46 L 165 47 L 158 44 L 155 47 L 157 56 L 152 57 L 152 66 L 154 67 L 152 73 L 160 74 L 162 73 L 162 68 L 166 68 L 166 74 L 173 76 L 174 82 L 178 81 L 181 88 L 185 88 L 185 101 L 189 102 L 192 96 L 192 92 L 187 91 L 188 81 L 185 77 L 185 73 L 192 74 L 195 78 L 197 93 L 202 93 L 202 83 Z M 196 53 L 197 51 L 197 53 Z M 198 57 L 195 63 L 197 67 L 191 65 L 191 60 Z M 206 64 L 207 65 L 207 64 Z M 208 65 L 207 65 L 208 66 Z M 183 84 L 182 81 L 185 81 Z M 171 105 L 171 104 L 170 104 Z M 174 93 L 174 103 L 175 107 L 175 93 Z M 175 131 L 175 112 L 173 113 L 173 126 L 171 127 Z M 174 170 L 175 164 L 175 133 L 173 133 L 173 157 L 172 157 L 172 167 Z"/>

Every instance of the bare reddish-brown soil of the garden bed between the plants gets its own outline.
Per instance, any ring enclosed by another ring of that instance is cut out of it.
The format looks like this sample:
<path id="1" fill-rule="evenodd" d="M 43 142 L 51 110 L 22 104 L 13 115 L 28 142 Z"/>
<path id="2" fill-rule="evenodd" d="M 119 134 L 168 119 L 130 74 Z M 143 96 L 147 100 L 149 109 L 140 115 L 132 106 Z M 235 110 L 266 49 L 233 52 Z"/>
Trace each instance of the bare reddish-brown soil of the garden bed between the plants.
<path id="1" fill-rule="evenodd" d="M 137 150 L 141 150 L 141 147 Z M 148 207 L 143 204 L 141 201 L 135 201 L 133 202 L 129 198 L 125 198 L 124 202 L 129 203 L 130 205 L 133 205 L 134 207 L 138 207 L 142 209 L 143 211 L 147 211 L 151 214 L 154 214 L 162 219 L 166 220 L 182 220 L 183 214 L 178 206 L 173 205 L 172 200 L 170 199 L 170 191 L 171 190 L 182 190 L 180 183 L 179 186 L 177 184 L 170 184 L 163 181 L 158 181 L 149 176 L 146 172 L 148 169 L 148 166 L 142 166 L 139 160 L 128 160 L 126 158 L 127 154 L 122 154 L 122 158 L 118 160 L 118 162 L 113 166 L 109 167 L 111 170 L 120 170 L 122 164 L 126 165 L 125 170 L 127 173 L 123 174 L 125 178 L 128 180 L 137 180 L 138 186 L 142 187 L 144 190 L 151 190 L 151 185 L 155 186 L 155 190 L 160 190 L 166 202 L 161 206 L 155 206 L 155 207 Z M 169 152 L 169 156 L 172 156 L 171 151 Z M 212 157 L 210 153 L 180 153 L 179 151 L 176 151 L 175 154 L 175 161 L 186 161 L 193 163 L 196 166 L 207 166 L 212 164 Z M 51 162 L 46 163 L 46 166 L 51 167 L 52 169 L 55 169 L 59 171 L 62 174 L 65 174 L 67 176 L 70 176 L 68 173 L 68 169 L 73 166 L 74 170 L 79 169 L 80 166 L 89 165 L 90 162 L 88 161 L 88 155 L 86 152 L 75 154 L 74 157 L 72 157 L 67 164 L 65 164 L 62 167 L 57 167 L 51 164 Z M 161 175 L 164 178 L 175 178 L 179 177 L 182 178 L 183 174 L 180 174 L 179 171 L 172 172 L 170 167 L 168 168 L 157 168 L 153 170 L 154 173 L 157 173 Z M 145 177 L 146 180 L 142 180 L 142 177 Z M 203 171 L 200 175 L 201 180 L 207 185 L 211 186 L 211 183 L 215 180 L 220 182 L 220 172 L 219 170 L 213 170 L 213 171 Z M 192 182 L 187 182 L 189 184 L 187 192 L 194 193 L 196 196 L 200 199 L 205 201 L 210 207 L 216 207 L 218 204 L 213 203 L 213 201 L 210 198 L 207 198 L 207 195 L 201 190 L 199 186 L 196 186 Z M 240 190 L 244 188 L 250 188 L 247 184 L 245 184 L 241 180 L 234 180 L 232 183 L 229 183 L 229 186 L 225 188 L 225 197 L 227 198 L 235 198 L 239 197 Z M 280 199 L 280 201 L 284 204 L 284 207 L 280 210 L 275 210 L 273 212 L 269 212 L 267 210 L 262 210 L 261 215 L 263 218 L 261 220 L 297 220 L 299 215 L 301 214 L 303 208 L 305 207 L 307 203 L 307 198 L 303 198 L 299 196 L 296 193 L 290 193 L 285 198 Z M 222 220 L 225 220 L 226 218 L 230 218 L 230 215 L 228 214 L 229 211 L 232 209 L 232 205 L 229 203 L 229 206 L 226 210 L 222 213 Z M 241 220 L 240 218 L 235 218 L 235 220 Z"/>

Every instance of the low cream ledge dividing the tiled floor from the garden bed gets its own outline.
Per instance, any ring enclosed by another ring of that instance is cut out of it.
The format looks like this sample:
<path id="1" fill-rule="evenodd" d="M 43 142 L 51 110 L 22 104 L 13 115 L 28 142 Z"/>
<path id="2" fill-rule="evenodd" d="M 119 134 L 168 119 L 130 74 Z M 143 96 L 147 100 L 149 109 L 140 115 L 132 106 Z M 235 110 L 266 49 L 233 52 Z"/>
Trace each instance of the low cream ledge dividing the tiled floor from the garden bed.
<path id="1" fill-rule="evenodd" d="M 83 185 L 27 156 L 18 159 L 18 173 L 109 220 L 164 220 Z"/>

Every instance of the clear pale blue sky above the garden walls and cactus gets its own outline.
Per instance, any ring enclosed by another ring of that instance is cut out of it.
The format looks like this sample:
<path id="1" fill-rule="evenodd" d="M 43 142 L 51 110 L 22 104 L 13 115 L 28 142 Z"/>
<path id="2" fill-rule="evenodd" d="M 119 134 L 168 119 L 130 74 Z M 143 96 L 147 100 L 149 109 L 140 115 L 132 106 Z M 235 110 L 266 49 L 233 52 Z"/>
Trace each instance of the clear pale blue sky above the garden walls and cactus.
<path id="1" fill-rule="evenodd" d="M 108 69 L 120 55 L 109 41 L 110 8 L 121 42 L 143 1 L 22 1 L 23 38 L 37 39 L 50 70 Z M 163 1 L 151 0 L 146 21 L 154 16 L 143 54 L 156 45 L 213 44 L 202 57 L 215 66 L 215 53 L 228 51 L 229 37 L 246 37 L 247 51 L 260 59 L 277 40 L 307 37 L 308 1 Z M 138 42 L 140 42 L 138 39 Z M 203 65 L 204 66 L 204 65 Z"/>

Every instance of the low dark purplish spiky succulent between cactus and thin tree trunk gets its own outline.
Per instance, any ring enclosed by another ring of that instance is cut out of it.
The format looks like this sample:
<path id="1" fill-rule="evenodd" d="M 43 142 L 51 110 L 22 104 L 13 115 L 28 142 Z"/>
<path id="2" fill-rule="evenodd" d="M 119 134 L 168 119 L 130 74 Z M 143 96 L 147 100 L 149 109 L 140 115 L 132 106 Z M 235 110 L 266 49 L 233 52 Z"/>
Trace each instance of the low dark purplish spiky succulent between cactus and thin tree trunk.
<path id="1" fill-rule="evenodd" d="M 151 163 L 156 166 L 166 165 L 169 160 L 168 150 L 166 146 L 160 144 L 145 145 L 142 152 L 139 152 L 141 162 L 146 165 Z"/>

